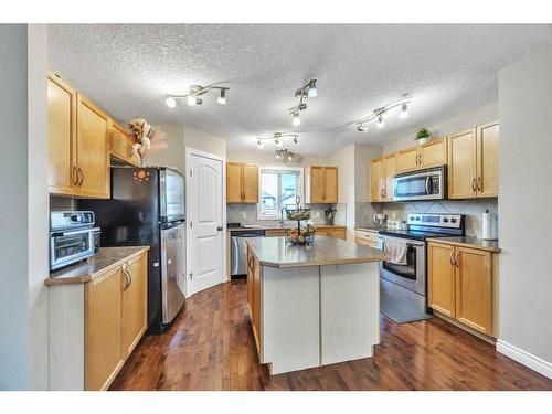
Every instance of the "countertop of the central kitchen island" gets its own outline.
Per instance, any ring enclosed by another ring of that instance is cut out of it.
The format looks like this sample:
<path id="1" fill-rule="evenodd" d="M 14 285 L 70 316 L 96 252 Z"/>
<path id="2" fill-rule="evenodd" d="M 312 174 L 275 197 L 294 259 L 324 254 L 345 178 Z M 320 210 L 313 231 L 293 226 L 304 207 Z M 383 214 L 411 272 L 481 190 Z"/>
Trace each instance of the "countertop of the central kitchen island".
<path id="1" fill-rule="evenodd" d="M 312 246 L 288 246 L 286 237 L 254 237 L 246 241 L 262 266 L 305 267 L 382 262 L 389 254 L 340 238 L 315 236 Z"/>

